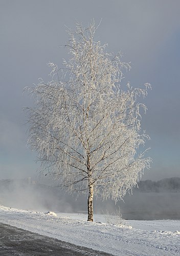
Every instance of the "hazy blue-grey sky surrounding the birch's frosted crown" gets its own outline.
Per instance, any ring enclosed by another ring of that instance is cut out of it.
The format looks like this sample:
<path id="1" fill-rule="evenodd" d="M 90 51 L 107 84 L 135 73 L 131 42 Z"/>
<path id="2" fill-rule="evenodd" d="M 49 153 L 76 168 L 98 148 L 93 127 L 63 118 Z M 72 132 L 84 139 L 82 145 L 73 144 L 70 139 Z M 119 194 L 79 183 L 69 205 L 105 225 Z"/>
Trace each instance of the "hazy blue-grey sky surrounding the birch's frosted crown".
<path id="1" fill-rule="evenodd" d="M 75 29 L 77 21 L 87 27 L 93 18 L 97 25 L 102 19 L 97 41 L 131 63 L 124 81 L 152 85 L 142 128 L 153 163 L 143 180 L 180 177 L 179 10 L 179 0 L 0 0 L 0 179 L 37 175 L 23 111 L 33 101 L 23 89 L 39 77 L 48 81 L 47 63 L 60 67 L 69 58 L 60 47 L 68 41 L 66 27 Z"/>

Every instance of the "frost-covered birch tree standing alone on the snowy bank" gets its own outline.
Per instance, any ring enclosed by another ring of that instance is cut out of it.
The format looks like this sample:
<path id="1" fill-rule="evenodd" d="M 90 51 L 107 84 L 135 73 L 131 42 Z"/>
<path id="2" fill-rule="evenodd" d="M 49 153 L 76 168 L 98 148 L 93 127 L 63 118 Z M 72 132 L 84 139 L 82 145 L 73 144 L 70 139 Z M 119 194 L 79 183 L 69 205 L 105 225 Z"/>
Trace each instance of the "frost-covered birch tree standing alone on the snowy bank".
<path id="1" fill-rule="evenodd" d="M 137 102 L 150 85 L 121 89 L 130 66 L 95 41 L 96 29 L 91 23 L 69 30 L 70 59 L 61 69 L 49 64 L 51 81 L 28 88 L 35 107 L 27 108 L 28 144 L 38 152 L 41 173 L 69 192 L 87 193 L 88 221 L 94 196 L 122 199 L 151 162 L 146 150 L 139 152 L 149 137 L 141 131 L 140 108 L 146 106 Z"/>

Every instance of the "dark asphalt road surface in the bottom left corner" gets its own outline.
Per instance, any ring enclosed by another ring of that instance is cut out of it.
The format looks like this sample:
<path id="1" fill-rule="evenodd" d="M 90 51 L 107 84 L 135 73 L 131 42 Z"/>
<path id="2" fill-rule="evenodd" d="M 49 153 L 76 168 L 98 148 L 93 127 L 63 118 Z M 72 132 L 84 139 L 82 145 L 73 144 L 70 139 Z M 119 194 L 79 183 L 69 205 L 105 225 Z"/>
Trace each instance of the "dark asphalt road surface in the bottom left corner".
<path id="1" fill-rule="evenodd" d="M 32 233 L 0 223 L 0 255 L 2 256 L 110 256 L 105 252 L 65 243 L 44 235 Z"/>

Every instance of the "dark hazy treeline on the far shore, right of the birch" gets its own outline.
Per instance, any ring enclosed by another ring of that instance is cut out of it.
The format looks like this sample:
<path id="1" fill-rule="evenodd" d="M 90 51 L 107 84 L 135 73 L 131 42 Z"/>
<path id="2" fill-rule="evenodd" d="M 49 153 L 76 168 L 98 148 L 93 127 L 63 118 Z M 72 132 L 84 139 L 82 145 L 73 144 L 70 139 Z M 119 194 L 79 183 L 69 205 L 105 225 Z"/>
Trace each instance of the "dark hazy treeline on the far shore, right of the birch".
<path id="1" fill-rule="evenodd" d="M 140 181 L 139 192 L 180 192 L 180 178 L 167 178 L 160 181 Z"/>

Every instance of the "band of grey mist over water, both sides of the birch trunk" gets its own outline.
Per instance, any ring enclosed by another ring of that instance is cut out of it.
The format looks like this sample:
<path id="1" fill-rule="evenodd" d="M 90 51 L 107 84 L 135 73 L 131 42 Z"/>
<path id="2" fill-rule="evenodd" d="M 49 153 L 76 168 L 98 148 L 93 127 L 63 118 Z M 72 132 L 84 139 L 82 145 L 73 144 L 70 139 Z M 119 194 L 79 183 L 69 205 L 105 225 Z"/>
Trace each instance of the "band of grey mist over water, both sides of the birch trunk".
<path id="1" fill-rule="evenodd" d="M 142 182 L 139 189 L 134 189 L 132 195 L 127 193 L 124 202 L 119 201 L 116 205 L 110 200 L 95 199 L 94 213 L 105 214 L 107 211 L 113 213 L 120 206 L 124 219 L 180 219 L 180 186 L 178 187 L 178 184 L 174 186 L 172 179 L 167 180 L 153 183 L 153 186 L 149 186 L 151 184 L 149 181 Z M 77 198 L 76 195 L 66 194 L 59 188 L 38 184 L 30 178 L 0 180 L 0 204 L 43 212 L 87 212 L 87 196 L 80 195 Z"/>

